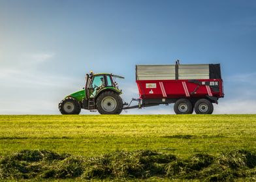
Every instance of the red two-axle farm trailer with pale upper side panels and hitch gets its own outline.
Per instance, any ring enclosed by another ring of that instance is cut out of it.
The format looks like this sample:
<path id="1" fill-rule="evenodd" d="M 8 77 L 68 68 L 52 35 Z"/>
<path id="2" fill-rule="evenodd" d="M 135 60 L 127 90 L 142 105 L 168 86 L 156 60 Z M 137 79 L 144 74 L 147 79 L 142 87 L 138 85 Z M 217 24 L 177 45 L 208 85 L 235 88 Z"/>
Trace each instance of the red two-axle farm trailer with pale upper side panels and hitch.
<path id="1" fill-rule="evenodd" d="M 123 109 L 174 103 L 176 114 L 212 114 L 224 97 L 220 64 L 136 65 L 136 84 L 138 106 Z"/>

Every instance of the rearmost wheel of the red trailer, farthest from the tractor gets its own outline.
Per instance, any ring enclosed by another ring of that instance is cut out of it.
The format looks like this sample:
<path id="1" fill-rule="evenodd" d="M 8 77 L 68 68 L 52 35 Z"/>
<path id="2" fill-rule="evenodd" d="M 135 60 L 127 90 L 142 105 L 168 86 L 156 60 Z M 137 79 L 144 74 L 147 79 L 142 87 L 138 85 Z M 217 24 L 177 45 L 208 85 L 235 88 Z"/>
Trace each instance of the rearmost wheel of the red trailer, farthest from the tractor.
<path id="1" fill-rule="evenodd" d="M 195 113 L 197 114 L 212 114 L 214 105 L 208 99 L 199 99 L 195 103 Z"/>

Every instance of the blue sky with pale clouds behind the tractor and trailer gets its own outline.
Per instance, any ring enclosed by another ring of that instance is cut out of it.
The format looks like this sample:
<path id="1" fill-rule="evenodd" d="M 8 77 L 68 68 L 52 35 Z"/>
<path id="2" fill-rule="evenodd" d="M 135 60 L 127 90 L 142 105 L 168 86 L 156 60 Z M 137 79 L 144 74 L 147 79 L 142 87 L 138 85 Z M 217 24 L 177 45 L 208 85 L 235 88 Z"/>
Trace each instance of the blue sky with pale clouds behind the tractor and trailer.
<path id="1" fill-rule="evenodd" d="M 90 70 L 123 75 L 129 101 L 138 98 L 136 64 L 176 59 L 221 63 L 225 98 L 214 113 L 255 114 L 255 48 L 256 1 L 1 0 L 0 114 L 59 114 Z"/>

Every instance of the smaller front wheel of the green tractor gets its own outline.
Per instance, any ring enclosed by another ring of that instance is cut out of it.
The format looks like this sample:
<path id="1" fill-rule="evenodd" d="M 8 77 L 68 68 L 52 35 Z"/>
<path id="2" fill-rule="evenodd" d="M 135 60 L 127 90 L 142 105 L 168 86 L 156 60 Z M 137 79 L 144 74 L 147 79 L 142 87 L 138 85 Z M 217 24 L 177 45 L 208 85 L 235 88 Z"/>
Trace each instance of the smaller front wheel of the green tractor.
<path id="1" fill-rule="evenodd" d="M 76 99 L 69 97 L 59 103 L 59 111 L 61 114 L 79 114 L 81 107 Z"/>

